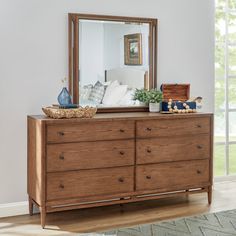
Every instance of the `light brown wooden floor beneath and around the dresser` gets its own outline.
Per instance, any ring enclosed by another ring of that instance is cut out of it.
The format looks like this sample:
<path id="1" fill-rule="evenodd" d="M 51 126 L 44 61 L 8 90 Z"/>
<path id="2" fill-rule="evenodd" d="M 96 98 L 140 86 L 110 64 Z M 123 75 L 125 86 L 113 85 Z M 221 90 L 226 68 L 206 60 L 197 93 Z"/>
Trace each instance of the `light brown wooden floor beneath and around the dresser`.
<path id="1" fill-rule="evenodd" d="M 78 235 L 112 228 L 158 222 L 173 218 L 236 209 L 236 181 L 216 183 L 213 202 L 207 194 L 175 197 L 156 201 L 74 210 L 47 215 L 41 229 L 39 214 L 0 218 L 0 235 Z M 77 233 L 77 234 L 76 234 Z"/>

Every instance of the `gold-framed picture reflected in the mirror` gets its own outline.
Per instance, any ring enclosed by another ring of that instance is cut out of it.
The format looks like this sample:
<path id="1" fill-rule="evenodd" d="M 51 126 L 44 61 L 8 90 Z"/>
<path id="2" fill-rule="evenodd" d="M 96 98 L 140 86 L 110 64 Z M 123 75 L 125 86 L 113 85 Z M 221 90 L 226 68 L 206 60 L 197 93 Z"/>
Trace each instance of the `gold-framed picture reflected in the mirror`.
<path id="1" fill-rule="evenodd" d="M 124 36 L 125 65 L 142 65 L 142 34 Z"/>

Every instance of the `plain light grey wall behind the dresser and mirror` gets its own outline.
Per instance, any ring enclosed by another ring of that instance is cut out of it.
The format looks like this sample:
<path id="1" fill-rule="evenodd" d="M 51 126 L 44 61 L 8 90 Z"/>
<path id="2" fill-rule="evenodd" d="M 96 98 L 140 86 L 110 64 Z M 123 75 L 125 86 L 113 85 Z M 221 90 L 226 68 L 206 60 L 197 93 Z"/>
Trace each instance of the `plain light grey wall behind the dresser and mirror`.
<path id="1" fill-rule="evenodd" d="M 158 84 L 191 83 L 213 111 L 213 0 L 0 0 L 0 203 L 26 195 L 26 115 L 67 75 L 67 13 L 159 19 Z"/>

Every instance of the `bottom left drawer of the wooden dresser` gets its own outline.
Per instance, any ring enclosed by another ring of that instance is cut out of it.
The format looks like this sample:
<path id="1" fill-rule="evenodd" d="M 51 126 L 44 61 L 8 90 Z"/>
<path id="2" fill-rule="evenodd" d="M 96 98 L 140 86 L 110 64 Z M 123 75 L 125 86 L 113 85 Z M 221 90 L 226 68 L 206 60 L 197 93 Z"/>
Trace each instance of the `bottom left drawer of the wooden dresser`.
<path id="1" fill-rule="evenodd" d="M 47 174 L 47 200 L 132 192 L 134 167 Z"/>

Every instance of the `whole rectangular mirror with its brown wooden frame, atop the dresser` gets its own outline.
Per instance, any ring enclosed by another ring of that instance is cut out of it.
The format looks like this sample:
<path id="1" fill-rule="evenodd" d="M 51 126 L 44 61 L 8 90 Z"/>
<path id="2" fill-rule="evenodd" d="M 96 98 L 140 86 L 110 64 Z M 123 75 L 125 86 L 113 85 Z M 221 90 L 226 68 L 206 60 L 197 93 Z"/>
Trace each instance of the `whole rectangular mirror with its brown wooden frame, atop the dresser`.
<path id="1" fill-rule="evenodd" d="M 135 89 L 157 81 L 157 19 L 69 14 L 69 90 L 99 112 L 145 111 Z"/>

